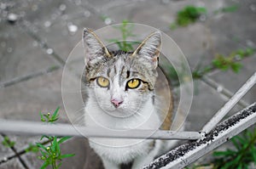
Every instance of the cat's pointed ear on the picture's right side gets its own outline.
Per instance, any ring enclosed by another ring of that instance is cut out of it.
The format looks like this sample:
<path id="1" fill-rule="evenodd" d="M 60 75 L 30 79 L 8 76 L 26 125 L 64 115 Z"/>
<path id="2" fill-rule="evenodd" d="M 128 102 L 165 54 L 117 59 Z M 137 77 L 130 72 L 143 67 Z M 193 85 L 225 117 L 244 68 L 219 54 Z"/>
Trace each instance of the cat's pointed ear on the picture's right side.
<path id="1" fill-rule="evenodd" d="M 138 46 L 132 56 L 138 55 L 144 57 L 153 65 L 154 69 L 158 65 L 158 57 L 160 55 L 161 33 L 154 31 Z"/>

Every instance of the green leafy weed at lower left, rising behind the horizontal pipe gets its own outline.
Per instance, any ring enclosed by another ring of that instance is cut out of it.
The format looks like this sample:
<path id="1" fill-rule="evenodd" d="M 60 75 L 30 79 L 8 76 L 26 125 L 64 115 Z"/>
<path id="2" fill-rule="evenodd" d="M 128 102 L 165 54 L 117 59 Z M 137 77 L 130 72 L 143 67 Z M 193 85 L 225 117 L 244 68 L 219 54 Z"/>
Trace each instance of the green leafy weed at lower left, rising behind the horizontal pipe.
<path id="1" fill-rule="evenodd" d="M 54 124 L 54 122 L 58 120 L 59 109 L 60 108 L 58 107 L 52 115 L 50 113 L 46 115 L 40 113 L 41 121 L 49 124 Z M 40 140 L 44 138 L 47 139 L 47 141 L 49 141 L 49 146 L 45 146 L 44 144 L 37 143 L 37 146 L 41 153 L 41 156 L 39 156 L 38 158 L 44 161 L 43 165 L 41 166 L 41 169 L 44 169 L 47 166 L 52 166 L 53 169 L 60 168 L 62 164 L 61 163 L 62 159 L 71 157 L 74 155 L 74 154 L 66 154 L 66 155 L 61 154 L 60 145 L 71 137 L 57 138 L 56 136 L 42 136 Z"/>

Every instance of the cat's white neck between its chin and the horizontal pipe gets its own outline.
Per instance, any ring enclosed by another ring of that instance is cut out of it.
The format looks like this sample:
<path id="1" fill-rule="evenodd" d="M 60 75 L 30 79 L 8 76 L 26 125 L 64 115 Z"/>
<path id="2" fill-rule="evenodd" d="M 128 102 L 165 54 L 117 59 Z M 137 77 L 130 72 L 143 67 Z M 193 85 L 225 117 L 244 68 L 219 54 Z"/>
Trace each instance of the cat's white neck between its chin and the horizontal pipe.
<path id="1" fill-rule="evenodd" d="M 160 127 L 160 117 L 157 114 L 152 100 L 148 99 L 135 115 L 129 117 L 114 117 L 108 115 L 100 107 L 92 106 L 94 100 L 88 100 L 85 107 L 85 124 L 90 127 L 108 127 L 111 129 L 157 129 Z"/>

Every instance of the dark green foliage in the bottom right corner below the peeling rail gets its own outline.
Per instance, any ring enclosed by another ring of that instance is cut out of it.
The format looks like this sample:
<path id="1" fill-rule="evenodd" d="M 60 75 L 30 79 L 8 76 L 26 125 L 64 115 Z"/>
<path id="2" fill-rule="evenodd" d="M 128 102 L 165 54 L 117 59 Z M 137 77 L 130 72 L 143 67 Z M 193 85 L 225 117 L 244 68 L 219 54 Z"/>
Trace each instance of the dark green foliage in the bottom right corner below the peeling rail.
<path id="1" fill-rule="evenodd" d="M 245 131 L 242 136 L 231 138 L 236 149 L 215 151 L 213 155 L 218 157 L 214 161 L 215 169 L 248 168 L 253 162 L 256 165 L 256 128 L 252 132 Z"/>

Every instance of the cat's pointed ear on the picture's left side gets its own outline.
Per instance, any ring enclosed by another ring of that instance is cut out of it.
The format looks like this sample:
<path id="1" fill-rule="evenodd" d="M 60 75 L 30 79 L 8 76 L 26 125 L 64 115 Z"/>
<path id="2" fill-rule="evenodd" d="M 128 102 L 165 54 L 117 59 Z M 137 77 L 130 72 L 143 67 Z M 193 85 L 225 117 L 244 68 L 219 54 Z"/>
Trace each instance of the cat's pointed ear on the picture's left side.
<path id="1" fill-rule="evenodd" d="M 110 57 L 108 48 L 104 46 L 102 41 L 96 34 L 88 28 L 83 31 L 83 44 L 84 44 L 84 61 L 85 65 L 88 63 L 96 63 L 103 57 Z"/>

